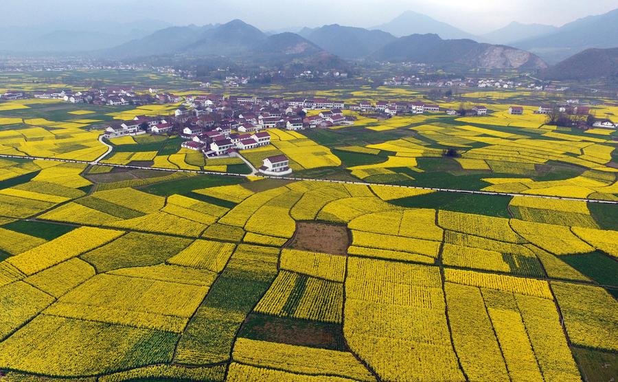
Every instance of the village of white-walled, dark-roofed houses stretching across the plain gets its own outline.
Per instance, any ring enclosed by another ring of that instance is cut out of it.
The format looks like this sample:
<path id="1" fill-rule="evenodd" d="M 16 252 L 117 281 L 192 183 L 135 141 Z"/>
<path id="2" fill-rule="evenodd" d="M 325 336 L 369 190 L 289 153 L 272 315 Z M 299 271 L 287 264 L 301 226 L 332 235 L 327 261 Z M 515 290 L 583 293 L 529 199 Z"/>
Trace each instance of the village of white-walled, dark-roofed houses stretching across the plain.
<path id="1" fill-rule="evenodd" d="M 234 79 L 236 80 L 236 79 Z M 239 79 L 242 80 L 242 79 Z M 398 80 L 398 79 L 393 79 Z M 104 106 L 139 106 L 145 104 L 181 104 L 169 115 L 135 115 L 133 120 L 115 122 L 106 127 L 104 137 L 125 135 L 177 134 L 183 137 L 183 148 L 201 151 L 207 157 L 229 155 L 240 150 L 249 150 L 271 144 L 271 135 L 264 130 L 279 128 L 299 131 L 307 128 L 330 128 L 353 125 L 355 111 L 377 120 L 396 115 L 444 112 L 453 116 L 482 117 L 488 114 L 487 106 L 475 105 L 470 109 L 441 109 L 438 104 L 422 101 L 367 100 L 346 104 L 341 100 L 327 98 L 261 98 L 256 96 L 222 94 L 175 95 L 150 88 L 135 91 L 132 87 L 106 87 L 87 91 L 53 90 L 35 93 L 7 91 L 0 100 L 24 98 L 56 99 L 74 104 L 89 103 Z M 463 105 L 463 104 L 462 104 Z M 310 111 L 319 111 L 311 113 Z M 512 115 L 525 113 L 521 106 L 511 106 Z M 574 118 L 581 128 L 617 126 L 607 119 L 585 117 L 591 113 L 589 106 L 569 100 L 564 105 L 541 105 L 534 113 L 550 115 L 561 113 Z M 575 124 L 573 124 L 575 126 Z"/>

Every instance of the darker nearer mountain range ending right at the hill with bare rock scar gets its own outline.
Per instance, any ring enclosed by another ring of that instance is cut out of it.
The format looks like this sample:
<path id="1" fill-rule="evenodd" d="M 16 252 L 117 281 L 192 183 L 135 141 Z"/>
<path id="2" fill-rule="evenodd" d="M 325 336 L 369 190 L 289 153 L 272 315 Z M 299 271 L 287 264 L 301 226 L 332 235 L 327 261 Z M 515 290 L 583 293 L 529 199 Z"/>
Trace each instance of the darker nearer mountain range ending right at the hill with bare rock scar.
<path id="1" fill-rule="evenodd" d="M 130 41 L 102 56 L 137 59 L 160 55 L 209 56 L 285 64 L 328 63 L 345 67 L 346 60 L 417 62 L 488 69 L 543 69 L 534 54 L 503 45 L 479 44 L 469 39 L 443 40 L 437 34 L 412 34 L 397 38 L 380 30 L 325 25 L 300 34 L 268 36 L 247 23 L 234 20 L 223 25 L 169 27 Z"/>

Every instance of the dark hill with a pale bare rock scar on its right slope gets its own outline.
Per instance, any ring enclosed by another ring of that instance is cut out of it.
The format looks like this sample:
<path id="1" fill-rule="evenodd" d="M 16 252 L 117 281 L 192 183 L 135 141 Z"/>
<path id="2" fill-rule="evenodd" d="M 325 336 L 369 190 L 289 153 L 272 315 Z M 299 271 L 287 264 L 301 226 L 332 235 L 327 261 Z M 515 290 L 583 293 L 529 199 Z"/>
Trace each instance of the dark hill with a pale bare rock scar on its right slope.
<path id="1" fill-rule="evenodd" d="M 412 61 L 432 65 L 461 65 L 486 69 L 544 69 L 547 64 L 529 52 L 504 45 L 481 44 L 468 39 L 443 40 L 437 34 L 398 38 L 370 58 L 379 61 Z"/>

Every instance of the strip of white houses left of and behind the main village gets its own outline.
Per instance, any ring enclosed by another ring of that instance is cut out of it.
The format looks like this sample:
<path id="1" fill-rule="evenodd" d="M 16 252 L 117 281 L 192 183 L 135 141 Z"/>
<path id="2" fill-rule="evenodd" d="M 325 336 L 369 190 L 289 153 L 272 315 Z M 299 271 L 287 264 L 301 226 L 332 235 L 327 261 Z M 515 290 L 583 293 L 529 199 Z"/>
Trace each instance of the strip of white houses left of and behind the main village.
<path id="1" fill-rule="evenodd" d="M 130 87 L 106 87 L 103 89 L 89 89 L 87 91 L 70 91 L 66 89 L 38 91 L 33 93 L 32 97 L 43 100 L 64 100 L 73 104 L 90 103 L 108 106 L 142 105 L 154 101 L 151 95 L 138 94 Z"/>

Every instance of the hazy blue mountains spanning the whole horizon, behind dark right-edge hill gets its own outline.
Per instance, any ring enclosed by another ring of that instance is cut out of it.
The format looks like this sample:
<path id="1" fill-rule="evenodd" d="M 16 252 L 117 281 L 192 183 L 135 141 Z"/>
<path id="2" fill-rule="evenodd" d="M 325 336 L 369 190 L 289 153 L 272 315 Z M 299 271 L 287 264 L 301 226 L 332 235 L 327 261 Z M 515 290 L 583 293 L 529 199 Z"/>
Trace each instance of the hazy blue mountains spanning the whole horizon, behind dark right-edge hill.
<path id="1" fill-rule="evenodd" d="M 343 60 L 418 62 L 488 69 L 545 69 L 591 47 L 618 46 L 618 10 L 562 27 L 513 22 L 473 36 L 417 12 L 371 29 L 338 24 L 266 34 L 240 20 L 222 25 L 170 26 L 159 21 L 80 30 L 0 28 L 0 50 L 87 53 L 104 58 L 225 57 L 264 63 Z M 87 32 L 83 32 L 87 30 Z"/>

